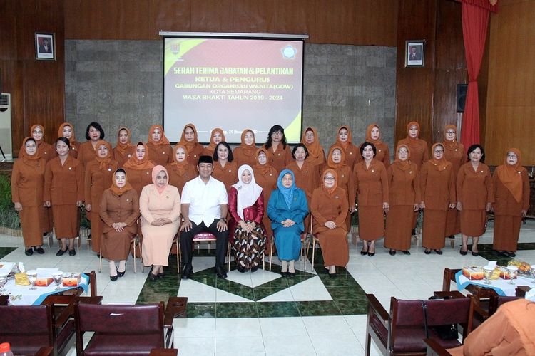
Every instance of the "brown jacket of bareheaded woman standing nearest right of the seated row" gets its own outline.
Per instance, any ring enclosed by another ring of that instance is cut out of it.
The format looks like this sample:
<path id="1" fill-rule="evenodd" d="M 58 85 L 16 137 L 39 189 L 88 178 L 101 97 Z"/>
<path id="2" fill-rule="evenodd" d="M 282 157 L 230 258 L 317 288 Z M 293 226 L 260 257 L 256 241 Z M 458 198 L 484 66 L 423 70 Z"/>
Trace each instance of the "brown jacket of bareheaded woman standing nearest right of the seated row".
<path id="1" fill-rule="evenodd" d="M 355 191 L 359 206 L 382 206 L 389 199 L 387 169 L 382 162 L 372 159 L 366 169 L 366 162 L 361 161 L 353 168 Z"/>

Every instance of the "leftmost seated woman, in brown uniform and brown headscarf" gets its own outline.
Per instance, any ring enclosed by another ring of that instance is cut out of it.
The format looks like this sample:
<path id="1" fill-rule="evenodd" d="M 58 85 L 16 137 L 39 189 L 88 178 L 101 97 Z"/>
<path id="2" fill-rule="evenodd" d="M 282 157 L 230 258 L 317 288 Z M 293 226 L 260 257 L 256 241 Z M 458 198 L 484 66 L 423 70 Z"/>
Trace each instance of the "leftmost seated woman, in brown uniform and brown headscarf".
<path id="1" fill-rule="evenodd" d="M 102 256 L 110 261 L 110 279 L 124 276 L 132 238 L 138 234 L 138 193 L 126 180 L 124 169 L 113 172 L 111 187 L 102 194 L 100 216 L 103 221 Z M 119 268 L 116 266 L 119 261 Z"/>

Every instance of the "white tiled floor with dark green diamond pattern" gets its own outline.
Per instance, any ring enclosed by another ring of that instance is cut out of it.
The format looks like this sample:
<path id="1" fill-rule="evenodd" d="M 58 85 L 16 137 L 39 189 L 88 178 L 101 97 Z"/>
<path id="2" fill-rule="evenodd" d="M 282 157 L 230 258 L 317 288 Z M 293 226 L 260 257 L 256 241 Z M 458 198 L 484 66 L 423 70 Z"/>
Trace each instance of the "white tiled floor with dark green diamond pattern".
<path id="1" fill-rule="evenodd" d="M 175 258 L 163 280 L 151 283 L 148 270 L 134 274 L 132 261 L 127 273 L 116 282 L 108 278 L 108 263 L 98 273 L 97 291 L 103 303 L 150 303 L 167 300 L 170 295 L 187 296 L 188 316 L 175 320 L 175 347 L 180 355 L 363 355 L 366 328 L 365 293 L 374 293 L 385 308 L 391 296 L 428 298 L 442 288 L 444 267 L 486 264 L 496 259 L 490 250 L 492 224 L 480 239 L 478 257 L 459 255 L 459 237 L 455 248 L 447 246 L 444 254 L 425 255 L 413 241 L 411 256 L 390 256 L 379 241 L 377 254 L 360 255 L 362 246 L 350 247 L 347 270 L 329 278 L 320 259 L 312 271 L 302 263 L 295 278 L 282 278 L 274 259 L 272 271 L 238 273 L 231 271 L 223 281 L 213 273 L 213 256 L 200 251 L 195 256 L 193 278 L 181 281 Z M 535 221 L 521 229 L 521 251 L 517 258 L 535 262 Z M 88 248 L 80 248 L 74 257 L 25 256 L 19 239 L 0 235 L 0 256 L 4 261 L 23 261 L 26 268 L 59 266 L 63 271 L 98 271 L 98 258 Z M 15 247 L 14 251 L 11 248 Z M 506 259 L 499 258 L 501 263 Z M 377 350 L 372 350 L 376 355 Z"/>

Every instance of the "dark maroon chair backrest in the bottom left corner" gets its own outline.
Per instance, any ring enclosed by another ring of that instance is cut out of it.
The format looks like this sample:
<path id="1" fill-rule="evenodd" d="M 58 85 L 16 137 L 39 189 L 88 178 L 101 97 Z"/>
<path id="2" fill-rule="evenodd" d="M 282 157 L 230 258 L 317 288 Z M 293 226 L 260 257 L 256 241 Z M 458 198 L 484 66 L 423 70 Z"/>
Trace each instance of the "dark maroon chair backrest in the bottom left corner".
<path id="1" fill-rule="evenodd" d="M 0 305 L 0 339 L 14 354 L 34 354 L 54 338 L 51 305 Z"/>

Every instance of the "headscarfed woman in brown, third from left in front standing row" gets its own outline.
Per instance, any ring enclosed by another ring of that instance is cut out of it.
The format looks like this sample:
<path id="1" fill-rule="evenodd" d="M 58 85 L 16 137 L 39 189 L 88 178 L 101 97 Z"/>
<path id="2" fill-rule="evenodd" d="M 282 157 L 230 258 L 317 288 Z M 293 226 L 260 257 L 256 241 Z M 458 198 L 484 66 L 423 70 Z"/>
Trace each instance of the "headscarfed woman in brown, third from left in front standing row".
<path id="1" fill-rule="evenodd" d="M 102 193 L 118 167 L 117 161 L 111 159 L 111 145 L 106 141 L 96 143 L 96 159 L 86 166 L 84 179 L 84 204 L 91 216 L 91 248 L 100 253 L 103 223 L 100 219 L 101 209 L 98 206 Z"/>

